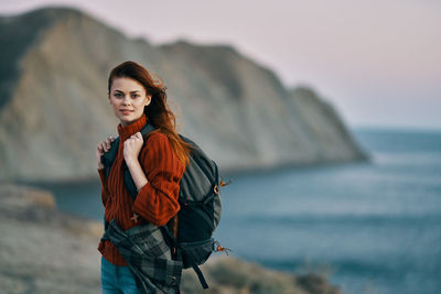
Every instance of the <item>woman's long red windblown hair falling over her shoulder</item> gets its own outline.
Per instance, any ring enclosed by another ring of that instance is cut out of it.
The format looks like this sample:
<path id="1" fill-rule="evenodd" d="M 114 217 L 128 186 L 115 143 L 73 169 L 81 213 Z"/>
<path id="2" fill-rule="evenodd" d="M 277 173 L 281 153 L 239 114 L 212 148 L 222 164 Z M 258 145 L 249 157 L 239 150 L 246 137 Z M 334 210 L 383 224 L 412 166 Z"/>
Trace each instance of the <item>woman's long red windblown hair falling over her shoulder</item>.
<path id="1" fill-rule="evenodd" d="M 151 95 L 151 101 L 144 107 L 144 113 L 157 130 L 153 132 L 164 133 L 171 143 L 174 152 L 180 161 L 186 166 L 190 163 L 190 152 L 192 145 L 183 141 L 176 132 L 176 118 L 170 110 L 166 104 L 166 86 L 161 77 L 153 79 L 149 70 L 142 65 L 128 61 L 116 66 L 109 75 L 108 90 L 111 89 L 111 84 L 115 78 L 127 77 L 140 83 L 144 89 L 146 95 Z"/>

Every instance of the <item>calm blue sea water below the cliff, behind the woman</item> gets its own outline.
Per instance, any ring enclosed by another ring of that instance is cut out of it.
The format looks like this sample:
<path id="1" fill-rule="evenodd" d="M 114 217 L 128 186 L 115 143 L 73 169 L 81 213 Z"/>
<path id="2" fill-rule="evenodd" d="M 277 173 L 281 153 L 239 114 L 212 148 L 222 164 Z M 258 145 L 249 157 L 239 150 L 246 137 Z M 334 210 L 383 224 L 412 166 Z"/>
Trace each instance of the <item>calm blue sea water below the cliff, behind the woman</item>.
<path id="1" fill-rule="evenodd" d="M 230 175 L 215 237 L 344 293 L 441 293 L 441 132 L 354 134 L 370 162 Z M 101 219 L 99 183 L 51 188 L 62 209 Z"/>

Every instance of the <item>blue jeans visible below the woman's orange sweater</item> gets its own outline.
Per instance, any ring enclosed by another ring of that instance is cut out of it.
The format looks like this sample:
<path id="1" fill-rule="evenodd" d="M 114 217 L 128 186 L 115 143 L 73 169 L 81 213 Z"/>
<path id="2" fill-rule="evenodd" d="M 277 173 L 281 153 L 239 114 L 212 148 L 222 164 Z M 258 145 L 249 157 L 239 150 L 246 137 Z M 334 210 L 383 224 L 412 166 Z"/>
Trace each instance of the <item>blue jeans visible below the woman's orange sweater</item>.
<path id="1" fill-rule="evenodd" d="M 138 294 L 129 266 L 115 265 L 101 255 L 103 294 Z"/>

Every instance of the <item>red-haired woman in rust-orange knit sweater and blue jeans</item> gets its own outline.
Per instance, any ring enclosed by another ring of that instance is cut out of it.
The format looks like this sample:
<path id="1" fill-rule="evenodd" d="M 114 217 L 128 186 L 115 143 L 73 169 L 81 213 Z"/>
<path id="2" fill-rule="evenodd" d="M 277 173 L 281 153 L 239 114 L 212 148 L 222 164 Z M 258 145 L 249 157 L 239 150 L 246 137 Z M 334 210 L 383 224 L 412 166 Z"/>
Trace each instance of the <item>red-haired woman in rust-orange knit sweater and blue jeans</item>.
<path id="1" fill-rule="evenodd" d="M 115 219 L 125 231 L 143 224 L 163 226 L 180 209 L 179 183 L 189 163 L 191 146 L 175 131 L 175 117 L 166 105 L 165 89 L 162 79 L 153 80 L 135 62 L 118 65 L 108 79 L 109 104 L 120 121 L 118 153 L 108 179 L 100 157 L 110 149 L 112 137 L 97 144 L 96 159 L 105 218 Z M 155 130 L 143 139 L 140 130 L 147 122 Z M 123 185 L 123 162 L 138 189 L 135 200 Z M 103 254 L 103 293 L 139 293 L 128 263 L 112 242 L 101 240 L 98 250 Z M 161 285 L 158 287 L 161 290 Z"/>

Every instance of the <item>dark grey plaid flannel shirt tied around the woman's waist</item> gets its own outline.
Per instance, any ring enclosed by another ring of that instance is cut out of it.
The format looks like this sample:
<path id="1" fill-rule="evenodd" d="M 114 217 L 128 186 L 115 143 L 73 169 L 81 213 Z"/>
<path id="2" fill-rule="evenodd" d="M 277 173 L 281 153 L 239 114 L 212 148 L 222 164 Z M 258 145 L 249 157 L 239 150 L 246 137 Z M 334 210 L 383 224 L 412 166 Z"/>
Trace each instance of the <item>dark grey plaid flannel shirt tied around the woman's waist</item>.
<path id="1" fill-rule="evenodd" d="M 105 220 L 101 240 L 110 240 L 128 263 L 140 293 L 179 293 L 182 261 L 171 258 L 161 229 L 150 222 L 123 231 Z"/>

